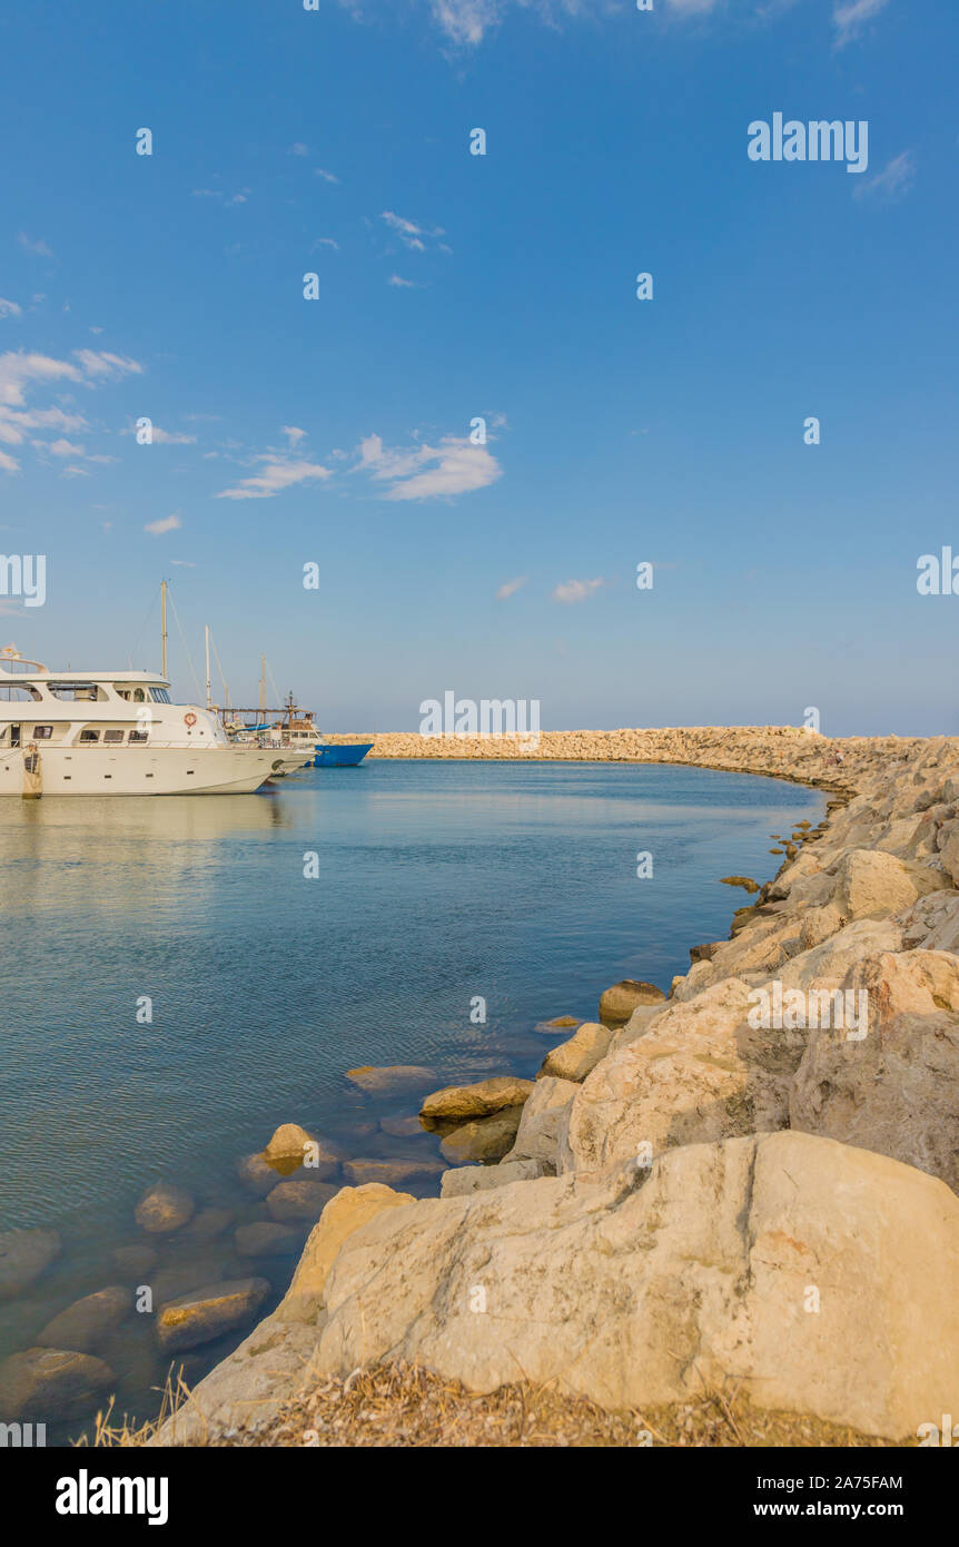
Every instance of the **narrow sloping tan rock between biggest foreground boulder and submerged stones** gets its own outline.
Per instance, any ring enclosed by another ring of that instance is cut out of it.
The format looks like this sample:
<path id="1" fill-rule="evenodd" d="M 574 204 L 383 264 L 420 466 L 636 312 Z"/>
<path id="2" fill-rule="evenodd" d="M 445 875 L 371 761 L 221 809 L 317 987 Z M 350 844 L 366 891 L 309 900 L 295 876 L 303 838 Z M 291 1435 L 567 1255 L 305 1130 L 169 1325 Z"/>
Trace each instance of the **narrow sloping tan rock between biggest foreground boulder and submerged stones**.
<path id="1" fill-rule="evenodd" d="M 312 1230 L 292 1282 L 271 1316 L 217 1364 L 152 1445 L 201 1445 L 209 1436 L 269 1423 L 309 1374 L 326 1275 L 346 1236 L 377 1213 L 411 1204 L 388 1187 L 343 1187 Z"/>

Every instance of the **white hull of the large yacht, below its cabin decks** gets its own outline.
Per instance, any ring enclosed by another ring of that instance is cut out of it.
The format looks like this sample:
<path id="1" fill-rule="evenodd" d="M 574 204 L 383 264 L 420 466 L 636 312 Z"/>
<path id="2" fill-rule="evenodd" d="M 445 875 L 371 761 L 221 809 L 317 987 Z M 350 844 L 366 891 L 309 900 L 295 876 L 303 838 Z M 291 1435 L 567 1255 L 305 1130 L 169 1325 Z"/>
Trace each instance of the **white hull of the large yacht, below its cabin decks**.
<path id="1" fill-rule="evenodd" d="M 43 795 L 246 795 L 271 777 L 277 752 L 260 747 L 49 747 Z M 23 750 L 0 752 L 0 795 L 23 795 Z"/>

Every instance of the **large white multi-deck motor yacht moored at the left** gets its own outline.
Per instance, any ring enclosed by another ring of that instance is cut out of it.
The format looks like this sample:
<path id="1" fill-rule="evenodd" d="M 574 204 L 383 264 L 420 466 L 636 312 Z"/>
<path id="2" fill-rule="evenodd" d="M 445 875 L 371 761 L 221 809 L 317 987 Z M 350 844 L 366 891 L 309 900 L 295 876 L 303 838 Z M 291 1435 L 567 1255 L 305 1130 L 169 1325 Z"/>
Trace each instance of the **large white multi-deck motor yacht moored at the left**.
<path id="1" fill-rule="evenodd" d="M 172 704 L 152 671 L 49 671 L 0 651 L 0 795 L 226 795 L 282 758 L 235 746 L 215 713 Z"/>

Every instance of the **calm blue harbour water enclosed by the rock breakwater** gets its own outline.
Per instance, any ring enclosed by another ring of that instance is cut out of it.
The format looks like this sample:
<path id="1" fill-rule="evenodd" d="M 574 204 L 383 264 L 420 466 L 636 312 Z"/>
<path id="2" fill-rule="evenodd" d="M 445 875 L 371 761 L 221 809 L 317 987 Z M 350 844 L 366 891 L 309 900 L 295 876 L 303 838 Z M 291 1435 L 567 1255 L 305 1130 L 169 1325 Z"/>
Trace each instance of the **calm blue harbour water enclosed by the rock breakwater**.
<path id="1" fill-rule="evenodd" d="M 719 877 L 772 876 L 770 832 L 821 806 L 702 769 L 436 761 L 309 770 L 251 797 L 0 801 L 0 1230 L 63 1236 L 59 1262 L 0 1307 L 0 1358 L 122 1281 L 110 1253 L 145 1239 L 133 1208 L 158 1177 L 240 1224 L 264 1210 L 235 1162 L 282 1122 L 354 1157 L 436 1154 L 433 1137 L 379 1128 L 416 1094 L 368 1097 L 345 1071 L 425 1064 L 427 1088 L 532 1075 L 551 1046 L 537 1023 L 596 1018 L 620 978 L 668 992 L 688 947 L 724 937 L 747 900 Z M 486 1026 L 470 1023 L 478 995 Z M 264 1275 L 263 1313 L 294 1261 L 237 1259 L 232 1227 L 152 1244 L 196 1287 Z M 178 1363 L 195 1381 L 243 1335 Z M 97 1352 L 119 1409 L 152 1416 L 169 1361 L 150 1316 Z"/>

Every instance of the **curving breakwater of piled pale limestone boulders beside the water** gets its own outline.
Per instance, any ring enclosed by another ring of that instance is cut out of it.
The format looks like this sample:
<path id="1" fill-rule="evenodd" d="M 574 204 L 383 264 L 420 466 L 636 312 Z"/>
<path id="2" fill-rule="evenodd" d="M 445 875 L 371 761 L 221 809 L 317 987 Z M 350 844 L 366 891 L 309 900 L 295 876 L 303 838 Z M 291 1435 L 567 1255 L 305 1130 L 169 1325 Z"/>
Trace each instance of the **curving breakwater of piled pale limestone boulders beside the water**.
<path id="1" fill-rule="evenodd" d="M 814 781 L 815 738 L 725 736 Z M 845 794 L 730 939 L 668 999 L 617 985 L 521 1103 L 472 1117 L 518 1106 L 498 1163 L 438 1199 L 342 1188 L 159 1443 L 252 1436 L 305 1378 L 390 1360 L 640 1414 L 738 1389 L 892 1443 L 957 1411 L 959 744 L 843 749 Z"/>

